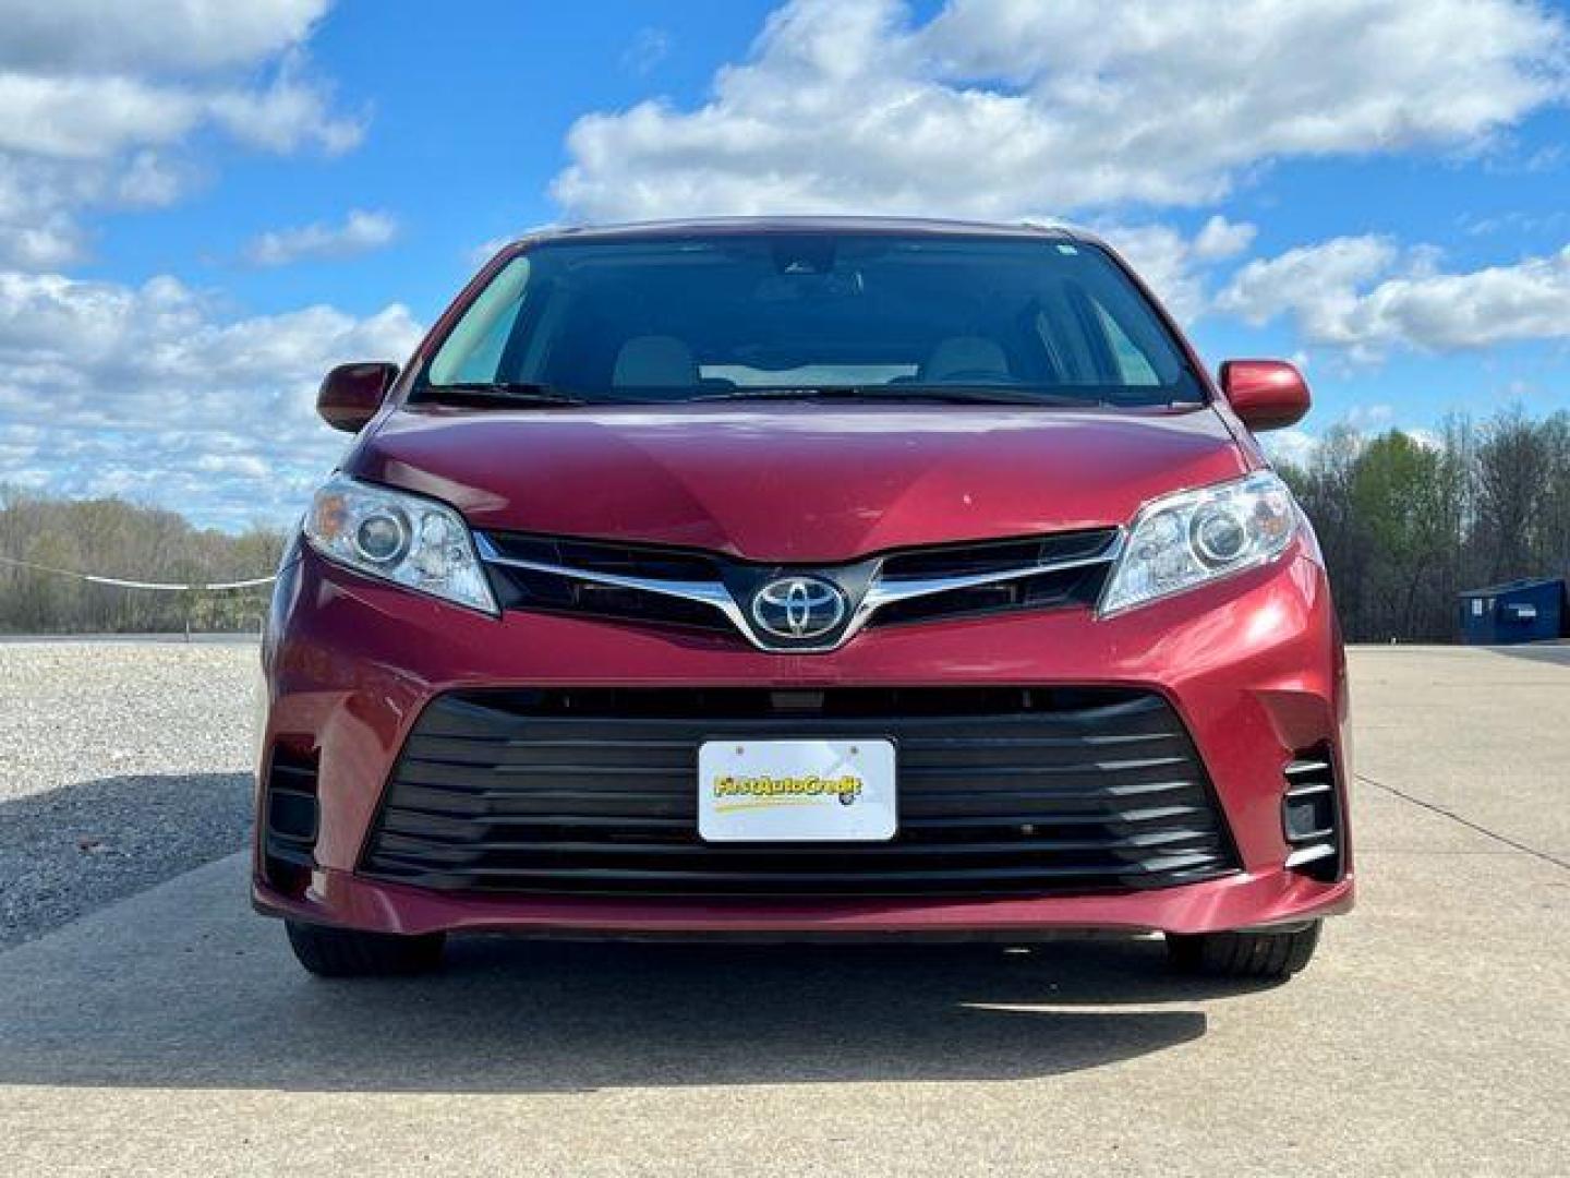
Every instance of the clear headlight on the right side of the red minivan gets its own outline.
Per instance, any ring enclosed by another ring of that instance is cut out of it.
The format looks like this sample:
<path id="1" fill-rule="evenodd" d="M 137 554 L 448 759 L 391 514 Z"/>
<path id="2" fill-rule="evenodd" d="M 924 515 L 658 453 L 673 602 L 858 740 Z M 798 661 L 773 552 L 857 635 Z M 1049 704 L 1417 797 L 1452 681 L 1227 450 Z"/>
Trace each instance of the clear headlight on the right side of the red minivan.
<path id="1" fill-rule="evenodd" d="M 1297 534 L 1297 504 L 1270 471 L 1154 499 L 1140 509 L 1099 616 L 1253 569 Z"/>

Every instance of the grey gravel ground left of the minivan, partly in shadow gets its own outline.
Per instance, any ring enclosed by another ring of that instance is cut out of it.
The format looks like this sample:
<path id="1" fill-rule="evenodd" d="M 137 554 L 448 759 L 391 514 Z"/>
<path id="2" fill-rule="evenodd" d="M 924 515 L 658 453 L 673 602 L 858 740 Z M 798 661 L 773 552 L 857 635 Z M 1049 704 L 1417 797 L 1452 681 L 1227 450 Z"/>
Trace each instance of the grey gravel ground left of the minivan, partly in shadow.
<path id="1" fill-rule="evenodd" d="M 256 658 L 0 644 L 0 946 L 245 845 Z"/>

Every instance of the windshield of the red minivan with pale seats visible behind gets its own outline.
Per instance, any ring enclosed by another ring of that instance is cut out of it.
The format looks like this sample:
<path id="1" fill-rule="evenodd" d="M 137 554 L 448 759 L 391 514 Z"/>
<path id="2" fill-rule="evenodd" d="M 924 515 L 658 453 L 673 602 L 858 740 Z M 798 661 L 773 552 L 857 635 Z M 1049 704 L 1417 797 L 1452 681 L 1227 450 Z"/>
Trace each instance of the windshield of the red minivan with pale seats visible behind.
<path id="1" fill-rule="evenodd" d="M 843 232 L 543 242 L 469 303 L 414 396 L 443 390 L 565 404 L 1203 401 L 1156 311 L 1096 247 Z"/>

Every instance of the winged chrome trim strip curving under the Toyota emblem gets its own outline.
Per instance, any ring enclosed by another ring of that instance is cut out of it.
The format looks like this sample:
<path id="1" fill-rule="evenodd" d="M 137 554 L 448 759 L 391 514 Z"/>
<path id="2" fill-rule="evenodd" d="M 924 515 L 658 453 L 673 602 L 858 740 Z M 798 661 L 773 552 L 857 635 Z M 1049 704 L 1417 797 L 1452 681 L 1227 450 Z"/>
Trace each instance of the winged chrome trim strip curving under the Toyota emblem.
<path id="1" fill-rule="evenodd" d="M 1118 528 L 1112 532 L 1107 543 L 1091 553 L 1090 556 L 1079 556 L 1063 561 L 1036 561 L 1031 564 L 1019 565 L 1014 569 L 999 569 L 986 573 L 967 573 L 958 576 L 929 576 L 929 578 L 911 578 L 885 581 L 882 580 L 882 565 L 885 558 L 873 558 L 870 561 L 859 561 L 843 565 L 832 567 L 801 567 L 799 572 L 807 572 L 815 576 L 824 576 L 834 580 L 834 567 L 862 567 L 870 565 L 871 575 L 865 594 L 862 594 L 860 602 L 854 605 L 851 613 L 851 620 L 834 636 L 832 641 L 821 646 L 776 646 L 771 644 L 766 636 L 758 635 L 752 627 L 747 611 L 743 603 L 738 602 L 730 589 L 721 581 L 675 581 L 661 580 L 652 576 L 625 576 L 622 573 L 608 573 L 595 569 L 575 569 L 565 564 L 551 564 L 546 561 L 528 561 L 517 556 L 507 556 L 502 553 L 495 542 L 485 532 L 474 534 L 474 545 L 479 551 L 480 561 L 485 564 L 504 565 L 509 569 L 523 569 L 526 572 L 545 573 L 550 576 L 560 576 L 573 581 L 587 581 L 593 584 L 612 586 L 617 589 L 634 589 L 645 594 L 659 594 L 664 597 L 675 597 L 685 602 L 697 602 L 700 605 L 717 609 L 725 616 L 727 620 L 758 650 L 766 650 L 769 653 L 824 653 L 829 650 L 838 650 L 842 646 L 851 641 L 884 606 L 895 605 L 896 602 L 909 602 L 920 597 L 936 597 L 939 594 L 958 592 L 962 589 L 977 589 L 989 584 L 1006 584 L 1010 581 L 1020 581 L 1028 576 L 1041 576 L 1046 573 L 1069 572 L 1074 569 L 1088 569 L 1101 564 L 1112 564 L 1123 553 L 1124 531 Z"/>

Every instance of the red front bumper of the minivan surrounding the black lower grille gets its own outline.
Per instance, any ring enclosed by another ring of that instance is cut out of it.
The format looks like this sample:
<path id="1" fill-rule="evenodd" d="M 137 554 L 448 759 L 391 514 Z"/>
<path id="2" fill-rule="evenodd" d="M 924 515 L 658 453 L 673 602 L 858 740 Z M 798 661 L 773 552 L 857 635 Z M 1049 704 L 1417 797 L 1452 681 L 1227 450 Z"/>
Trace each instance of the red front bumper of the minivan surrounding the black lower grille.
<path id="1" fill-rule="evenodd" d="M 1108 620 L 1075 609 L 874 628 L 827 655 L 769 655 L 722 636 L 545 614 L 498 620 L 303 551 L 279 578 L 264 671 L 262 779 L 268 760 L 314 765 L 319 818 L 308 867 L 287 883 L 264 869 L 257 847 L 253 895 L 259 909 L 298 920 L 392 933 L 612 936 L 1201 933 L 1294 924 L 1352 903 L 1344 663 L 1324 570 L 1306 548 Z M 436 696 L 504 686 L 696 685 L 1159 693 L 1204 762 L 1240 870 L 1138 892 L 810 900 L 455 894 L 356 873 L 399 751 Z M 1283 771 L 1303 749 L 1328 751 L 1336 770 L 1334 878 L 1286 867 Z"/>

